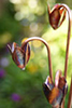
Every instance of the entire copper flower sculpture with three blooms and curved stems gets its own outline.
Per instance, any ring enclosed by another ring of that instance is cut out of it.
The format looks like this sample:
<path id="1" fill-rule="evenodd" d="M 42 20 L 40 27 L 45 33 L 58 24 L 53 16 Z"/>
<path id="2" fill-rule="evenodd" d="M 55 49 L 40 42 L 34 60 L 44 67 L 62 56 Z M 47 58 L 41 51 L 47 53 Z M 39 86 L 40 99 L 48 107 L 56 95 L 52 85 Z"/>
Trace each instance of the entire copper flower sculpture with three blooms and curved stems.
<path id="1" fill-rule="evenodd" d="M 23 70 L 25 69 L 30 58 L 29 42 L 33 40 L 39 40 L 45 44 L 47 49 L 49 76 L 46 78 L 46 81 L 43 84 L 43 91 L 48 103 L 52 105 L 53 108 L 64 108 L 63 102 L 68 91 L 67 69 L 68 69 L 69 43 L 70 43 L 70 33 L 71 33 L 71 15 L 70 15 L 70 9 L 66 4 L 56 4 L 52 11 L 48 5 L 49 24 L 54 29 L 57 29 L 59 26 L 61 26 L 61 24 L 66 18 L 67 12 L 69 15 L 69 28 L 68 28 L 68 40 L 67 40 L 67 51 L 66 51 L 64 75 L 62 76 L 61 70 L 58 70 L 56 72 L 55 83 L 53 81 L 51 50 L 48 43 L 44 39 L 38 37 L 29 38 L 23 42 L 21 46 L 18 46 L 15 42 L 13 42 L 12 48 L 8 44 L 13 60 Z M 68 103 L 68 108 L 71 108 L 71 98 L 72 98 L 71 91 L 72 91 L 72 80 L 71 80 L 70 99 Z"/>

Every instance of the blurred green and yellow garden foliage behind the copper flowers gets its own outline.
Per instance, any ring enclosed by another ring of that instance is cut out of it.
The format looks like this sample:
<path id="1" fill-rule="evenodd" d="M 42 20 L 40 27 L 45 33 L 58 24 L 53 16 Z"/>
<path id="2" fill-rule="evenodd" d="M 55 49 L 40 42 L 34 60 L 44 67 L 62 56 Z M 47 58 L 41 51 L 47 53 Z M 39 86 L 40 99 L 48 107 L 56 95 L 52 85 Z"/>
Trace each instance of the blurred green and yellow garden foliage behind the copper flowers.
<path id="1" fill-rule="evenodd" d="M 54 77 L 58 69 L 63 72 L 68 19 L 58 30 L 53 30 L 48 24 L 47 2 L 53 8 L 61 0 L 0 0 L 0 68 L 5 70 L 5 76 L 0 78 L 0 108 L 51 108 L 42 86 L 48 76 L 46 48 L 40 42 L 31 42 L 31 57 L 25 71 L 16 67 L 6 49 L 6 44 L 13 41 L 20 45 L 24 38 L 42 37 L 51 46 Z M 68 1 L 62 2 L 71 8 Z M 69 86 L 71 59 L 72 35 L 67 78 Z M 18 103 L 12 100 L 13 93 L 20 96 Z M 66 108 L 68 96 L 69 93 Z"/>

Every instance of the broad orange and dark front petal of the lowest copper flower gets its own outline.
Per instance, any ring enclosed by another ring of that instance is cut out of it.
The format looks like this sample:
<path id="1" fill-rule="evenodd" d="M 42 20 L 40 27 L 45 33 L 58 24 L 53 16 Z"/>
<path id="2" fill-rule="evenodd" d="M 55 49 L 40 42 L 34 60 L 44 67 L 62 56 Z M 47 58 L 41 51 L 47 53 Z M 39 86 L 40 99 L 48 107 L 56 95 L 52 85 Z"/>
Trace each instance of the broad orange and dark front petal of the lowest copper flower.
<path id="1" fill-rule="evenodd" d="M 44 94 L 48 100 L 48 103 L 56 107 L 61 105 L 62 102 L 62 91 L 59 90 L 58 87 L 53 87 L 52 91 L 49 91 L 49 89 L 46 86 L 46 84 L 43 85 L 43 90 L 44 90 Z"/>

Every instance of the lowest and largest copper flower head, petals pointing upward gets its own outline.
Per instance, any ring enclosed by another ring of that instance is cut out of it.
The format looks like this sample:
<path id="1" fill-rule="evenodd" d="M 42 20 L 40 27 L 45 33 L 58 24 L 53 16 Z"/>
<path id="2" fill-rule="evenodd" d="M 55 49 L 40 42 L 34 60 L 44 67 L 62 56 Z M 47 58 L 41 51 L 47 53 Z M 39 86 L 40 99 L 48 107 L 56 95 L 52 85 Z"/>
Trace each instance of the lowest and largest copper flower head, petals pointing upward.
<path id="1" fill-rule="evenodd" d="M 60 106 L 63 97 L 67 93 L 68 85 L 64 77 L 61 76 L 61 71 L 58 70 L 55 77 L 55 84 L 52 82 L 51 78 L 47 77 L 43 84 L 44 94 L 48 103 L 53 107 Z"/>

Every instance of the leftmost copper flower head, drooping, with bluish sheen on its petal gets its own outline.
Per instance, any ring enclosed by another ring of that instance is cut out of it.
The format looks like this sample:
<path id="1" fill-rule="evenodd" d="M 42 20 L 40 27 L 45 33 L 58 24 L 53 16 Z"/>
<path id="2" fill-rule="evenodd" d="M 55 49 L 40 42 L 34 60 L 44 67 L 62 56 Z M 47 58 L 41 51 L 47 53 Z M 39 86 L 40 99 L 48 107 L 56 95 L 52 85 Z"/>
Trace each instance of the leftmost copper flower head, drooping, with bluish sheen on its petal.
<path id="1" fill-rule="evenodd" d="M 29 58 L 30 58 L 30 46 L 29 43 L 26 43 L 21 49 L 15 42 L 13 42 L 12 48 L 8 44 L 8 48 L 12 54 L 12 58 L 15 64 L 20 68 L 25 69 Z"/>

